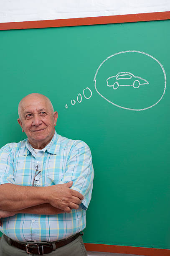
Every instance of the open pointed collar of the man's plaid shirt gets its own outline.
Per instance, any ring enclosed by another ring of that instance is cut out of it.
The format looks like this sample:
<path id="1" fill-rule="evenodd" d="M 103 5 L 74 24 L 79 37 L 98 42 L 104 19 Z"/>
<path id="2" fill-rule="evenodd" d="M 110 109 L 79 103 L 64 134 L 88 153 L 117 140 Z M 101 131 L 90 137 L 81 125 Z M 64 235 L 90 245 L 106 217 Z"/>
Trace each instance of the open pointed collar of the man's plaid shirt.
<path id="1" fill-rule="evenodd" d="M 51 140 L 50 143 L 47 144 L 47 146 L 45 146 L 45 148 L 42 149 L 42 151 L 47 151 L 48 153 L 54 154 L 54 155 L 59 155 L 59 150 L 60 150 L 60 140 L 59 140 L 59 135 L 56 133 L 54 133 L 54 136 Z M 26 147 L 25 150 L 23 151 L 23 155 L 29 155 L 29 154 L 34 154 L 33 153 L 33 148 L 30 145 L 28 139 L 26 140 Z"/>

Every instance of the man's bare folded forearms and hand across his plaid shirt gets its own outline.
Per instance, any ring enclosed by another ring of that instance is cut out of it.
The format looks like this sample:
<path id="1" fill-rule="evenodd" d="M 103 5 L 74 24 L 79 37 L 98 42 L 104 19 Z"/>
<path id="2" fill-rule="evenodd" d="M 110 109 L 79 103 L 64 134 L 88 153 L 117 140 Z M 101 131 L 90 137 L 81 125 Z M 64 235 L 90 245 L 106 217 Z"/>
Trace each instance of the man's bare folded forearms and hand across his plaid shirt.
<path id="1" fill-rule="evenodd" d="M 0 218 L 17 213 L 53 215 L 78 209 L 83 195 L 71 189 L 73 182 L 49 187 L 0 185 Z"/>

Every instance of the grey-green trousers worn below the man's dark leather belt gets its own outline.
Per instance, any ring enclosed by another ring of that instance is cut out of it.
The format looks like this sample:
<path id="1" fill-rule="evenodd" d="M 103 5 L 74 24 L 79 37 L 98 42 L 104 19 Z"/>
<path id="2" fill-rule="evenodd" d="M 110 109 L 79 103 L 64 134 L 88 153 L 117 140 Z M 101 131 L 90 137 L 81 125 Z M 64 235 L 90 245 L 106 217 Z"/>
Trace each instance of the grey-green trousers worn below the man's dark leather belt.
<path id="1" fill-rule="evenodd" d="M 28 254 L 26 251 L 20 250 L 14 246 L 11 246 L 8 239 L 3 235 L 0 239 L 0 256 L 27 256 L 37 254 Z M 86 249 L 84 247 L 83 239 L 81 235 L 65 246 L 62 246 L 56 251 L 44 254 L 46 256 L 87 256 Z"/>

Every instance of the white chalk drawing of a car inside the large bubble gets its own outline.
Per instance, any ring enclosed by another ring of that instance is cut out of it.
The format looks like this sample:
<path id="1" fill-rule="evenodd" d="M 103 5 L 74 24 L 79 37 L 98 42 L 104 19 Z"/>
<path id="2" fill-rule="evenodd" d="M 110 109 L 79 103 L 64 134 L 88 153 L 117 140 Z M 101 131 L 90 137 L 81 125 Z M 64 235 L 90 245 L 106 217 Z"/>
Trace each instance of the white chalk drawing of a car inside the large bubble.
<path id="1" fill-rule="evenodd" d="M 119 86 L 133 86 L 139 88 L 141 84 L 149 84 L 146 79 L 134 76 L 130 72 L 119 72 L 117 75 L 107 78 L 107 86 L 116 90 Z"/>

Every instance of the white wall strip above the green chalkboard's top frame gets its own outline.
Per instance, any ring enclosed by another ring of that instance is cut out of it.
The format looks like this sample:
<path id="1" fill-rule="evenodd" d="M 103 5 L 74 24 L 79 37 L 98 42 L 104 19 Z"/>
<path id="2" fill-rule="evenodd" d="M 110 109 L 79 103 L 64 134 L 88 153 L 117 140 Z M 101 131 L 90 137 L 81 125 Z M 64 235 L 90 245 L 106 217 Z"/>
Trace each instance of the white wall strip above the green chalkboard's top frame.
<path id="1" fill-rule="evenodd" d="M 0 0 L 0 23 L 170 11 L 170 0 Z"/>

